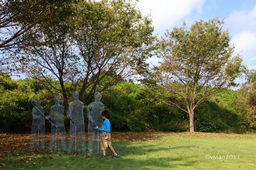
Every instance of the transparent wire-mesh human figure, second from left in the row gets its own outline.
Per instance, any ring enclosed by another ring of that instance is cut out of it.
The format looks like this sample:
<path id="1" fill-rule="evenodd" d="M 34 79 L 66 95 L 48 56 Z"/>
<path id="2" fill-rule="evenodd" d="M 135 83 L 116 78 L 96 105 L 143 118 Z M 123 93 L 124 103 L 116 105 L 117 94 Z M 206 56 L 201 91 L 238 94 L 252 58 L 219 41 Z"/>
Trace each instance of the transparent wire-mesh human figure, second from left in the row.
<path id="1" fill-rule="evenodd" d="M 45 119 L 52 121 L 49 151 L 67 150 L 66 130 L 64 127 L 64 108 L 60 105 L 60 97 L 54 96 L 55 105 L 50 108 L 50 113 Z M 55 127 L 53 126 L 55 125 Z M 61 144 L 61 147 L 59 147 Z M 53 149 L 54 147 L 54 149 Z"/>

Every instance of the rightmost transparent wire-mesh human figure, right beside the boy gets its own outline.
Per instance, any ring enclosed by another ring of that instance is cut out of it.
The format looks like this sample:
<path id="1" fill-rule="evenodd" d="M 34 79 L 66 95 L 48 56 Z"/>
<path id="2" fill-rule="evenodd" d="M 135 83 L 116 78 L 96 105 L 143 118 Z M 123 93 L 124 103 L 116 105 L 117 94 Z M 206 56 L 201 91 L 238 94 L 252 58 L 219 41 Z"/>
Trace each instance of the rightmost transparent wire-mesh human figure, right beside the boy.
<path id="1" fill-rule="evenodd" d="M 89 119 L 88 124 L 88 154 L 100 154 L 100 135 L 95 126 L 102 126 L 101 113 L 104 110 L 104 104 L 100 102 L 101 94 L 99 92 L 94 93 L 95 102 L 91 103 L 87 107 L 87 117 Z"/>

